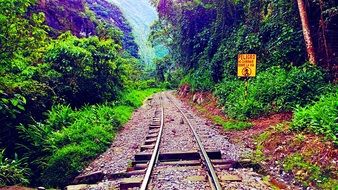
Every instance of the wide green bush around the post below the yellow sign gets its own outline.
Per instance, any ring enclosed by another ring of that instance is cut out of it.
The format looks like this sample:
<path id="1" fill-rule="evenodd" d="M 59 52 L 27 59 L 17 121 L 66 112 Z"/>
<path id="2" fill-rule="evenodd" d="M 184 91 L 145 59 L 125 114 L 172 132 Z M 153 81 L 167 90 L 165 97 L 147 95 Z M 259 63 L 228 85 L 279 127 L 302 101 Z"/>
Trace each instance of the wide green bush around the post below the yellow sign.
<path id="1" fill-rule="evenodd" d="M 305 64 L 286 70 L 272 67 L 249 80 L 245 96 L 244 81 L 226 79 L 215 88 L 220 105 L 231 118 L 247 119 L 305 105 L 330 89 L 324 73 Z"/>

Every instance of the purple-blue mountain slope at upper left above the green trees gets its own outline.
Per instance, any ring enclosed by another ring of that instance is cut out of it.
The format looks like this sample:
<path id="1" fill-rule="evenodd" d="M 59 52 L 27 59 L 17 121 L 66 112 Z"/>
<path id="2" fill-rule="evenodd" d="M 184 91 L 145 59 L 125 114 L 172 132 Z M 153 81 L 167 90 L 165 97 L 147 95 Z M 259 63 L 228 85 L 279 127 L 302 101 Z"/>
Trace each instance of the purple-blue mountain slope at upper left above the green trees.
<path id="1" fill-rule="evenodd" d="M 105 0 L 39 0 L 34 11 L 45 13 L 46 23 L 52 28 L 52 36 L 68 30 L 78 37 L 95 35 L 98 25 L 95 20 L 98 19 L 120 29 L 123 32 L 124 49 L 132 56 L 139 57 L 131 27 L 121 10 Z M 91 11 L 94 15 L 91 15 Z"/>

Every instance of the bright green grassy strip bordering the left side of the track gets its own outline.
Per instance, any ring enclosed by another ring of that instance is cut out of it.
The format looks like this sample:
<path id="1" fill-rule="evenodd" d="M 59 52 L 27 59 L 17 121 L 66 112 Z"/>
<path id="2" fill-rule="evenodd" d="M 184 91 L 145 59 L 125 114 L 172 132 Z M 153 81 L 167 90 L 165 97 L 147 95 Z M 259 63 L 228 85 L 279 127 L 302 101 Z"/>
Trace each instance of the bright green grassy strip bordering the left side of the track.
<path id="1" fill-rule="evenodd" d="M 72 109 L 57 105 L 47 120 L 19 127 L 36 183 L 65 187 L 93 159 L 106 151 L 135 108 L 160 89 L 125 92 L 117 103 Z M 33 168 L 38 168 L 33 170 Z"/>

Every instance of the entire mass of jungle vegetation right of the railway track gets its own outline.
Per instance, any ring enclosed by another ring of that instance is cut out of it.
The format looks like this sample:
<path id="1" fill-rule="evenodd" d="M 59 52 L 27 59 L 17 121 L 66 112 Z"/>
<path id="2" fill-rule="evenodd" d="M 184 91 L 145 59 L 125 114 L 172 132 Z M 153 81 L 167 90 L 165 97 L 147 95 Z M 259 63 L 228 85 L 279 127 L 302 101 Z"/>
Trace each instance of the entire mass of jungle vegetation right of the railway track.
<path id="1" fill-rule="evenodd" d="M 180 86 L 182 93 L 211 91 L 230 121 L 211 118 L 225 129 L 245 129 L 252 126 L 247 121 L 293 112 L 287 129 L 276 133 L 316 134 L 337 147 L 337 1 L 153 0 L 152 3 L 160 19 L 152 26 L 150 40 L 154 45 L 164 44 L 169 51 L 156 61 L 159 80 L 172 87 Z M 303 22 L 300 15 L 308 22 Z M 309 31 L 312 49 L 303 35 Z M 247 93 L 245 79 L 237 77 L 237 56 L 241 53 L 258 57 L 257 76 L 248 79 Z M 298 148 L 306 140 L 300 139 L 303 140 L 297 141 Z M 260 156 L 264 155 L 263 144 L 258 142 Z M 293 171 L 296 178 L 306 171 L 297 178 L 305 187 L 336 189 L 336 167 L 334 164 L 318 167 L 318 162 L 312 159 L 318 156 L 314 152 L 303 154 L 293 150 L 288 154 L 295 153 L 294 157 L 290 155 L 278 162 L 284 162 L 281 167 Z M 300 164 L 291 165 L 293 158 Z M 268 160 L 269 155 L 264 159 Z"/>

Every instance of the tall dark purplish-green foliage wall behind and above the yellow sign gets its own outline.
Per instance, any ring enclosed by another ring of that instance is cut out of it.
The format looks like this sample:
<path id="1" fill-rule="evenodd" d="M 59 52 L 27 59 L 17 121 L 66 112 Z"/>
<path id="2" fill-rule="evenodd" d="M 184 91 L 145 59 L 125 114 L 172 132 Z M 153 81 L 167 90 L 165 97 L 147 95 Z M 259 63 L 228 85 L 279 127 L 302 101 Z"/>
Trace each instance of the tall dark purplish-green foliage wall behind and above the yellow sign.
<path id="1" fill-rule="evenodd" d="M 159 1 L 157 6 L 161 19 L 151 40 L 169 48 L 170 65 L 193 73 L 190 81 L 197 88 L 209 90 L 212 82 L 236 76 L 240 53 L 257 54 L 258 71 L 305 62 L 299 18 L 289 16 L 299 14 L 292 1 Z"/>

